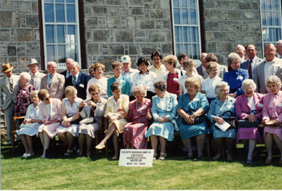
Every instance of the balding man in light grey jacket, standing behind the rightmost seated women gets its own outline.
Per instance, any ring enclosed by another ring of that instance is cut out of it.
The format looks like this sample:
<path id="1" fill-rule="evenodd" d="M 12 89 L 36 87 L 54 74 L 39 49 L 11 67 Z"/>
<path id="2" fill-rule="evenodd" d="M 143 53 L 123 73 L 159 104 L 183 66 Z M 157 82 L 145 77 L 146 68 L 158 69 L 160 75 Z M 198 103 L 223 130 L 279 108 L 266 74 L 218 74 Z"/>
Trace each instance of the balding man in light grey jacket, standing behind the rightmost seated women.
<path id="1" fill-rule="evenodd" d="M 256 92 L 262 94 L 268 92 L 265 82 L 270 75 L 277 75 L 282 80 L 282 60 L 276 58 L 276 47 L 274 44 L 266 44 L 264 54 L 266 57 L 257 64 L 254 74 L 254 81 L 257 84 Z"/>

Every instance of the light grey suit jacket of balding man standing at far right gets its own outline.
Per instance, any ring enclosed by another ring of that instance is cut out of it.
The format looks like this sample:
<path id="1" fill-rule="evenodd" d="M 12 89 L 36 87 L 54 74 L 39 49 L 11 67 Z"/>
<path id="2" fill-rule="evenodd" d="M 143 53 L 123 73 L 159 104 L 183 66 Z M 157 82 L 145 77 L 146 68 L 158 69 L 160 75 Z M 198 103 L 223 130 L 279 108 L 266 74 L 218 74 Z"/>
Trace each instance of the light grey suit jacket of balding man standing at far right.
<path id="1" fill-rule="evenodd" d="M 255 67 L 255 73 L 253 77 L 253 80 L 257 85 L 256 92 L 262 94 L 266 93 L 266 85 L 264 80 L 264 63 L 266 63 L 265 58 Z M 272 75 L 277 75 L 277 77 L 282 80 L 282 60 L 276 57 L 274 58 L 274 73 Z"/>

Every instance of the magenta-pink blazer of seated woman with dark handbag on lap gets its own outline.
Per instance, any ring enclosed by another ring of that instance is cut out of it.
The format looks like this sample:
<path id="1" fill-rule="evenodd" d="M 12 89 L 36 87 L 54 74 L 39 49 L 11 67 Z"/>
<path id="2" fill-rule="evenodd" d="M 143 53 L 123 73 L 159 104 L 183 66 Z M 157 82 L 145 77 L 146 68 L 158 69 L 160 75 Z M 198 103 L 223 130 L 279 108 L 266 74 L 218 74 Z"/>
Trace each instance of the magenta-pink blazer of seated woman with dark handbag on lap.
<path id="1" fill-rule="evenodd" d="M 259 94 L 256 92 L 254 93 L 255 108 L 257 110 L 256 116 L 259 119 L 262 119 L 263 98 L 264 94 Z M 249 112 L 251 108 L 245 94 L 240 95 L 236 98 L 235 109 L 236 115 L 239 119 L 245 119 L 248 116 L 247 112 Z"/>

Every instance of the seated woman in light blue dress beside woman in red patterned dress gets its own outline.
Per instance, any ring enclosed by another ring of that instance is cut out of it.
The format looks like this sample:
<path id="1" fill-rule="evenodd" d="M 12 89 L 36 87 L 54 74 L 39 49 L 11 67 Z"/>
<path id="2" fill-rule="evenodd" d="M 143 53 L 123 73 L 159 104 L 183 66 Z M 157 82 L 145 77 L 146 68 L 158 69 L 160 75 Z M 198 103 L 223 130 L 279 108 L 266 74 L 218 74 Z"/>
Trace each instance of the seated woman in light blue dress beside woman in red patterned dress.
<path id="1" fill-rule="evenodd" d="M 158 140 L 161 144 L 159 159 L 166 159 L 166 140 L 173 140 L 174 123 L 176 123 L 176 94 L 166 92 L 166 82 L 159 80 L 154 83 L 156 96 L 152 97 L 152 116 L 154 123 L 147 130 L 145 137 L 151 137 L 154 160 L 157 158 Z"/>

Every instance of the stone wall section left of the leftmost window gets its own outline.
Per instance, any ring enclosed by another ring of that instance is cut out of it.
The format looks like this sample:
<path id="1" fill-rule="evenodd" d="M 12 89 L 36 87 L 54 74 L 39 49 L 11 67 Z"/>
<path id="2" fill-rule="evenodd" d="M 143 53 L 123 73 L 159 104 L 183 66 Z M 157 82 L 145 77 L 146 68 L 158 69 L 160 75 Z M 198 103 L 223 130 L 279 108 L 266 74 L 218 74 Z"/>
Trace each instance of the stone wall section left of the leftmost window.
<path id="1" fill-rule="evenodd" d="M 0 63 L 9 62 L 14 72 L 27 70 L 29 58 L 40 63 L 37 0 L 0 1 Z"/>

